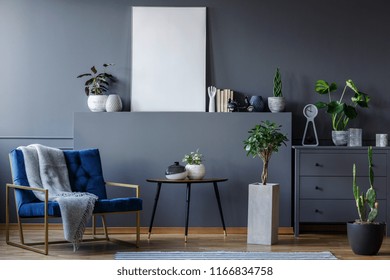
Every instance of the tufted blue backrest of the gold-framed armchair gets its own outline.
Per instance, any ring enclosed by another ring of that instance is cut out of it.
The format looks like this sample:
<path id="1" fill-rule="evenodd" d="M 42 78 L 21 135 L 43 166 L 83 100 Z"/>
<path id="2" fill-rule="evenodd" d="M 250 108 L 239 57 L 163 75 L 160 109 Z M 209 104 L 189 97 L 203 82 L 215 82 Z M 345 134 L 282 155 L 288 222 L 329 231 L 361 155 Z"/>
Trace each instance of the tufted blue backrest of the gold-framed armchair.
<path id="1" fill-rule="evenodd" d="M 106 186 L 98 149 L 64 151 L 69 173 L 69 181 L 74 192 L 89 192 L 99 199 L 107 198 Z M 10 152 L 12 180 L 15 185 L 30 186 L 24 164 L 23 152 L 15 149 Z M 39 201 L 32 191 L 17 190 L 18 207 L 23 203 Z"/>

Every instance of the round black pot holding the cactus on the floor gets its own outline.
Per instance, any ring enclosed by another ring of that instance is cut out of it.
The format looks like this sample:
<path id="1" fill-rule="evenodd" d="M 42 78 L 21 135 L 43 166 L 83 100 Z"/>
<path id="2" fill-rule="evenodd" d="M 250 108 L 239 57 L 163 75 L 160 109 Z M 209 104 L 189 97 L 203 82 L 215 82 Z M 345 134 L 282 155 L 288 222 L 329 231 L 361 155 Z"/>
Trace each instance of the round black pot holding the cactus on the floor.
<path id="1" fill-rule="evenodd" d="M 378 254 L 385 231 L 385 223 L 347 223 L 349 245 L 356 255 L 370 256 Z"/>

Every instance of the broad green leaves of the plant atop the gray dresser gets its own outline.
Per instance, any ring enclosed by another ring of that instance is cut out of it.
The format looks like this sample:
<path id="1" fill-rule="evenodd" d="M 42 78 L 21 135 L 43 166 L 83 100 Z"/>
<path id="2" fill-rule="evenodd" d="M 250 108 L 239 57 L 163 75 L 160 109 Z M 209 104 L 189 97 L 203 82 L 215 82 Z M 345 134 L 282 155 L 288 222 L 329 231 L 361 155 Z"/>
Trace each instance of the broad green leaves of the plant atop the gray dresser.
<path id="1" fill-rule="evenodd" d="M 351 97 L 350 103 L 344 102 L 344 95 L 347 88 L 354 92 L 354 96 Z M 332 100 L 331 93 L 337 90 L 336 83 L 327 83 L 324 80 L 318 80 L 315 84 L 315 91 L 321 95 L 327 94 L 329 96 L 329 102 L 317 102 L 315 105 L 319 109 L 326 108 L 326 112 L 332 117 L 332 129 L 333 130 L 346 130 L 348 122 L 357 117 L 356 107 L 367 108 L 370 101 L 370 97 L 360 92 L 352 80 L 347 80 L 341 97 L 338 100 Z"/>

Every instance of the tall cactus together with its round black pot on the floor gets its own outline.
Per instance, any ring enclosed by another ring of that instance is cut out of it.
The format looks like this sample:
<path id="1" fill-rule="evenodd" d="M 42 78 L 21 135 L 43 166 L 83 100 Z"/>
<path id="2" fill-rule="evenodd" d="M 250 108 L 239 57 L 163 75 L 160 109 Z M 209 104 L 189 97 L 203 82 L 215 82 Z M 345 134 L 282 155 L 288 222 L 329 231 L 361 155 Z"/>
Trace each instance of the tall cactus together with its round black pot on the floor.
<path id="1" fill-rule="evenodd" d="M 376 255 L 382 245 L 385 223 L 375 222 L 379 203 L 374 189 L 374 171 L 372 168 L 372 147 L 368 147 L 369 188 L 361 192 L 356 183 L 356 165 L 353 165 L 353 196 L 359 219 L 347 223 L 348 241 L 352 251 L 358 255 Z"/>

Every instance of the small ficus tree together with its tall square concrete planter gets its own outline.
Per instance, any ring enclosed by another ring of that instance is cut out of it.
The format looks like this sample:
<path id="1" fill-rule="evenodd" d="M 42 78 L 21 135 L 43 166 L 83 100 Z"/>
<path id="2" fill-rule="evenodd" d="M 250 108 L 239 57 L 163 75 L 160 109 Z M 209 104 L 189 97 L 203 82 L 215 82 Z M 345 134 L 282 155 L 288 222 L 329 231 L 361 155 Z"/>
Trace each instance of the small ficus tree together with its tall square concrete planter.
<path id="1" fill-rule="evenodd" d="M 263 121 L 249 131 L 244 141 L 247 156 L 263 161 L 261 183 L 249 184 L 247 242 L 250 244 L 271 245 L 278 241 L 279 184 L 268 183 L 268 166 L 272 154 L 288 141 L 280 127 Z"/>

